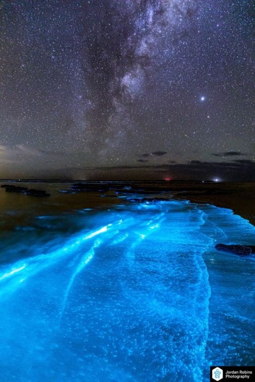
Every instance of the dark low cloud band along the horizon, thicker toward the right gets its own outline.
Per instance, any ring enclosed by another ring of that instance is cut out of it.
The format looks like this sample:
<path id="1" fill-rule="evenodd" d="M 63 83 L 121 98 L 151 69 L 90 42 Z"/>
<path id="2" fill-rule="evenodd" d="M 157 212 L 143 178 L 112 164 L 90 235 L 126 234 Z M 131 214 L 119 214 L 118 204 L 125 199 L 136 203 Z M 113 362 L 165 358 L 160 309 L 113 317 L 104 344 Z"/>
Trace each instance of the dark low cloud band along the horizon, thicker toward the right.
<path id="1" fill-rule="evenodd" d="M 33 173 L 9 172 L 3 179 L 80 179 L 80 180 L 205 180 L 205 181 L 255 181 L 255 163 L 251 160 L 232 160 L 228 162 L 187 163 L 111 166 L 95 168 L 37 169 Z"/>

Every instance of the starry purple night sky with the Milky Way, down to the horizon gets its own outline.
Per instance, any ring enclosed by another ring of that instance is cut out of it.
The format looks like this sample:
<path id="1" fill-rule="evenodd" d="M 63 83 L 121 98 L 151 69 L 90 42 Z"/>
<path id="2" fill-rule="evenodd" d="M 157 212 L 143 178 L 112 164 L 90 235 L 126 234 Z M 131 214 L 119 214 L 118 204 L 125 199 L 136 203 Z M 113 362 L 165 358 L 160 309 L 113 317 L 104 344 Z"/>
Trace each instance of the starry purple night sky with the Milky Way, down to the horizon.
<path id="1" fill-rule="evenodd" d="M 255 180 L 252 0 L 0 0 L 0 178 Z"/>

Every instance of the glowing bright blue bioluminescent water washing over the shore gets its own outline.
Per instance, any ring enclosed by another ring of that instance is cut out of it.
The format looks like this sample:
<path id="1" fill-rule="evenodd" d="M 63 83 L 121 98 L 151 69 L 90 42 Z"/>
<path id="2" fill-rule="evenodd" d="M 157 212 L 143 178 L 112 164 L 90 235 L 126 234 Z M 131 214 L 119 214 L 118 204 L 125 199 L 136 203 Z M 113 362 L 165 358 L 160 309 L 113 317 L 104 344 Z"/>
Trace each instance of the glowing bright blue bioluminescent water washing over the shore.
<path id="1" fill-rule="evenodd" d="M 254 227 L 185 201 L 76 219 L 52 249 L 24 255 L 20 234 L 2 265 L 1 381 L 207 381 L 210 364 L 251 363 L 253 258 L 214 245 L 254 244 Z"/>

